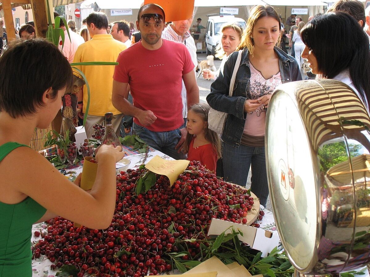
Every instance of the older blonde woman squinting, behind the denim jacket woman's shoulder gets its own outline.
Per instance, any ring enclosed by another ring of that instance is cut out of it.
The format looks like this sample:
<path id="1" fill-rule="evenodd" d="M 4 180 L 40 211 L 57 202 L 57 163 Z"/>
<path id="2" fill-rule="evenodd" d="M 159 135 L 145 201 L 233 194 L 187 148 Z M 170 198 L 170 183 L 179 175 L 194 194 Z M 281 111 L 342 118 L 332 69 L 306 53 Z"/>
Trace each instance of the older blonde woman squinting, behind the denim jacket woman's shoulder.
<path id="1" fill-rule="evenodd" d="M 203 69 L 202 76 L 204 79 L 216 79 L 219 72 L 223 69 L 226 58 L 234 51 L 239 50 L 239 44 L 242 38 L 243 30 L 239 23 L 225 23 L 221 26 L 221 41 L 216 47 L 216 58 L 222 59 L 218 71 Z"/>

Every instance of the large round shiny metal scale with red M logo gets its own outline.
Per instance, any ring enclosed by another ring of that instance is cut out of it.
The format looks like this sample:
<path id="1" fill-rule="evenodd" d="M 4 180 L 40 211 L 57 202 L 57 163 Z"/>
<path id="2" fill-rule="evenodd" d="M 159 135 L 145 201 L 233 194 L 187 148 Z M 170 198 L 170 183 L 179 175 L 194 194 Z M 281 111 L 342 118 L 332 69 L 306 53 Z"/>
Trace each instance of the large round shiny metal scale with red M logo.
<path id="1" fill-rule="evenodd" d="M 342 82 L 285 83 L 266 118 L 270 197 L 296 276 L 370 262 L 370 118 Z"/>

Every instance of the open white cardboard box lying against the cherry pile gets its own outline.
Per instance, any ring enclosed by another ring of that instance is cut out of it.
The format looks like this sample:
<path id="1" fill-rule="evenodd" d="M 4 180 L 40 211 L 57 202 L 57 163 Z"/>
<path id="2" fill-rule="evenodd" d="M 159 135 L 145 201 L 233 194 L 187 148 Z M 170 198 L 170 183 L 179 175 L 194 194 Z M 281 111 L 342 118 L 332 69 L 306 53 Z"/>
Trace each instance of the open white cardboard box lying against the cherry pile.
<path id="1" fill-rule="evenodd" d="M 279 245 L 279 235 L 270 231 L 263 230 L 262 228 L 255 228 L 240 223 L 234 223 L 221 219 L 212 218 L 211 225 L 209 226 L 208 236 L 220 235 L 223 231 L 230 226 L 234 226 L 235 230 L 240 230 L 243 236 L 238 235 L 239 240 L 248 243 L 250 248 L 262 252 L 262 257 L 266 257 L 276 246 Z M 231 233 L 228 229 L 225 234 Z"/>

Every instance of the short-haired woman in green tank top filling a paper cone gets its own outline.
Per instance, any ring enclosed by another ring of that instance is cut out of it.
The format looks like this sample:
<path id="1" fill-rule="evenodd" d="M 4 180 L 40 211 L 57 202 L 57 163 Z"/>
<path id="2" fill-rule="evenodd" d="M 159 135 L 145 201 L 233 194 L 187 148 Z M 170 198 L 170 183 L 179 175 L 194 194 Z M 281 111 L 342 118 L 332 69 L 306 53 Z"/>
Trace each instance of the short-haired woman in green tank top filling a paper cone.
<path id="1" fill-rule="evenodd" d="M 94 187 L 86 192 L 80 177 L 73 184 L 28 147 L 34 129 L 50 125 L 71 85 L 71 66 L 55 45 L 41 38 L 9 43 L 0 76 L 0 276 L 32 276 L 33 223 L 62 216 L 92 229 L 110 225 L 115 163 L 124 154 L 103 145 Z"/>

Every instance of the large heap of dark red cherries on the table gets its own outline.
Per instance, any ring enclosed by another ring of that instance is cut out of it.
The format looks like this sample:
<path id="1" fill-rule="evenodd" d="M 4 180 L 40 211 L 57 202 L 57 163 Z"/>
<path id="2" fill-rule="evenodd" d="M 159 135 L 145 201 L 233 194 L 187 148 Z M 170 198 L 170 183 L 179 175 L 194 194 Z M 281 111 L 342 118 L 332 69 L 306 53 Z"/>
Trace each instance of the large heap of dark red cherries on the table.
<path id="1" fill-rule="evenodd" d="M 52 269 L 73 265 L 80 277 L 157 275 L 172 269 L 169 253 L 186 249 L 182 260 L 200 258 L 199 242 L 184 240 L 204 242 L 212 218 L 246 223 L 243 217 L 254 203 L 245 189 L 216 178 L 195 161 L 172 187 L 167 177 L 156 175 L 155 184 L 136 195 L 137 180 L 145 172 L 117 175 L 116 208 L 108 229 L 75 228 L 63 218 L 52 219 L 33 249 L 34 257 L 46 255 Z M 262 216 L 261 211 L 258 219 Z"/>

